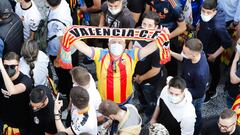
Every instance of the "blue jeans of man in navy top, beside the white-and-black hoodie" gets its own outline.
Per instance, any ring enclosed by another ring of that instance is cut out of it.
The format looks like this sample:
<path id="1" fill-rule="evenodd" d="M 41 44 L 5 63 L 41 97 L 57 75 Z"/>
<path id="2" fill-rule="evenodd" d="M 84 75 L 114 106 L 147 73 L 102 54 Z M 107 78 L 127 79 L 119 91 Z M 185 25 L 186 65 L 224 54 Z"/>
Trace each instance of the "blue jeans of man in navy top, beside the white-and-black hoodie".
<path id="1" fill-rule="evenodd" d="M 197 99 L 193 99 L 192 103 L 193 106 L 195 108 L 195 112 L 197 115 L 196 118 L 196 123 L 195 123 L 195 131 L 194 131 L 194 135 L 199 135 L 201 128 L 202 128 L 202 105 L 205 99 L 205 95 L 202 98 L 197 98 Z"/>

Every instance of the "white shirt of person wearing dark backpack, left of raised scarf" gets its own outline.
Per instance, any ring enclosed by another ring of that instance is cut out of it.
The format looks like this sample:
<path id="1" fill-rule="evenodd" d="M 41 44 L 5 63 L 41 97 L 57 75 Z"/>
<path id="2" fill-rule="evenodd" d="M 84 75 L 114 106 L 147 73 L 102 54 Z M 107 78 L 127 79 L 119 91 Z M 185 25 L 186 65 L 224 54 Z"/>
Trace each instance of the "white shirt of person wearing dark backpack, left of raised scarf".
<path id="1" fill-rule="evenodd" d="M 57 19 L 59 21 L 51 21 L 52 19 Z M 57 56 L 60 49 L 60 40 L 58 37 L 64 34 L 66 26 L 72 25 L 70 7 L 65 0 L 61 0 L 60 5 L 55 9 L 51 9 L 48 21 L 50 21 L 48 23 L 48 38 L 54 35 L 57 37 L 48 42 L 47 53 L 51 56 Z"/>

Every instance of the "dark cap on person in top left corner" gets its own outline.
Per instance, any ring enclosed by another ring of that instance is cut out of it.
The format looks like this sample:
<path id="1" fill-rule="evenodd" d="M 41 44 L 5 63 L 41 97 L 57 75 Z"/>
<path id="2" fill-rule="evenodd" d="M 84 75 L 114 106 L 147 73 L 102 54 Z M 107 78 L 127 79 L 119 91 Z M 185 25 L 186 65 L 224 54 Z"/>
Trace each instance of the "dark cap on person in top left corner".
<path id="1" fill-rule="evenodd" d="M 5 14 L 11 13 L 12 11 L 12 6 L 9 0 L 0 0 L 0 17 Z"/>

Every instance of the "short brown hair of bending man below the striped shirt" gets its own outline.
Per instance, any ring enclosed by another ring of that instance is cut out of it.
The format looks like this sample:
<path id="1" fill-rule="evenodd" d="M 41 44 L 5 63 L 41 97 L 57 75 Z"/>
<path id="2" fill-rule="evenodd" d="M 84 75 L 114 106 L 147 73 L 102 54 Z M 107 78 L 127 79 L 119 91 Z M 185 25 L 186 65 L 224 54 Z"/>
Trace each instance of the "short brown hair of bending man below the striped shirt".
<path id="1" fill-rule="evenodd" d="M 120 107 L 117 103 L 111 100 L 105 100 L 99 105 L 99 112 L 104 116 L 109 116 L 111 114 L 115 115 L 119 112 Z"/>

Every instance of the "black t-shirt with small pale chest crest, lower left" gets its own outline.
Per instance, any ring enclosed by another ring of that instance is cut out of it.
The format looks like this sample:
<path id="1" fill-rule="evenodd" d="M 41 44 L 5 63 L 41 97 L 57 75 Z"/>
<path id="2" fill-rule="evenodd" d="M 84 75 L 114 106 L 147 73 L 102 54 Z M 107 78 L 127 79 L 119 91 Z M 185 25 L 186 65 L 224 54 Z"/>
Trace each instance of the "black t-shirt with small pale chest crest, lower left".
<path id="1" fill-rule="evenodd" d="M 33 112 L 32 108 L 30 108 L 33 135 L 44 135 L 45 132 L 55 134 L 57 132 L 54 118 L 53 96 L 50 89 L 47 87 L 44 89 L 46 90 L 48 97 L 47 106 L 37 112 Z"/>

